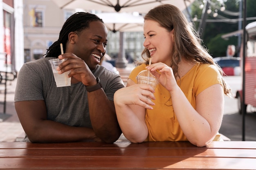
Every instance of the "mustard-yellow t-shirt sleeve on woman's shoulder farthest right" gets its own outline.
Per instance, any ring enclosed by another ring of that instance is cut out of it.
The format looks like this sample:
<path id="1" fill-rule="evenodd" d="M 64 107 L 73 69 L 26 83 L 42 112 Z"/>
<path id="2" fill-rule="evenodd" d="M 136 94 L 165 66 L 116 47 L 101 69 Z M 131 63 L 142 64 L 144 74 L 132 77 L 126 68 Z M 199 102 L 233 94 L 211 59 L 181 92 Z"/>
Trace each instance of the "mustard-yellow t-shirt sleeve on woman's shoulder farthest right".
<path id="1" fill-rule="evenodd" d="M 214 85 L 222 84 L 222 75 L 214 65 L 202 64 L 198 69 L 198 74 L 194 82 L 195 96 L 204 91 L 206 88 Z"/>

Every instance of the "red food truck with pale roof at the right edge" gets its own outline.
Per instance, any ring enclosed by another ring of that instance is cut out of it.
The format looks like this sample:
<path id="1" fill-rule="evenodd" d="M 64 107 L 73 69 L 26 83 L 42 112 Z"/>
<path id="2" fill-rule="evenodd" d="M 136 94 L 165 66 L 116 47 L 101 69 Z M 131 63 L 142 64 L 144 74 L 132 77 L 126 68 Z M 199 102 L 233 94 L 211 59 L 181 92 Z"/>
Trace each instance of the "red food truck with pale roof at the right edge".
<path id="1" fill-rule="evenodd" d="M 249 23 L 245 27 L 245 110 L 248 105 L 256 109 L 256 22 Z M 243 53 L 243 45 L 240 50 Z M 241 54 L 242 54 L 241 53 Z M 243 55 L 241 55 L 243 56 Z M 241 60 L 240 66 L 243 68 L 243 60 Z M 238 99 L 238 110 L 242 114 L 243 104 L 243 91 L 238 90 L 236 92 L 236 98 Z"/>

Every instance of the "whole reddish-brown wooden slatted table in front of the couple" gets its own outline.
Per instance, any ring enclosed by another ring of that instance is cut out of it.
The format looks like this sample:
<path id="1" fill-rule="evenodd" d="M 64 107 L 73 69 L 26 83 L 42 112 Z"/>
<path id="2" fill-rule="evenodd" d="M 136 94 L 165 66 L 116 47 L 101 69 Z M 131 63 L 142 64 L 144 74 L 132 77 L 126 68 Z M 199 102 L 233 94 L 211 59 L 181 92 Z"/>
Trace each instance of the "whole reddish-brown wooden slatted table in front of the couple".
<path id="1" fill-rule="evenodd" d="M 0 143 L 0 169 L 169 170 L 256 169 L 256 141 Z"/>

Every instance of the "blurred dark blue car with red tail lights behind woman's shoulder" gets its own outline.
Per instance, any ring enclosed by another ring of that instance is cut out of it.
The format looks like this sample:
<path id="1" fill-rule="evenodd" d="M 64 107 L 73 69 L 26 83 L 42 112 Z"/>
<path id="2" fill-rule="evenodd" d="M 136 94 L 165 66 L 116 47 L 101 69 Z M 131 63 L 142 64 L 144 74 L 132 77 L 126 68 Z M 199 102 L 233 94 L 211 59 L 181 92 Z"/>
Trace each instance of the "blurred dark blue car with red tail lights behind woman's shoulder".
<path id="1" fill-rule="evenodd" d="M 240 75 L 240 57 L 216 57 L 213 58 L 220 68 L 222 68 L 225 75 Z"/>

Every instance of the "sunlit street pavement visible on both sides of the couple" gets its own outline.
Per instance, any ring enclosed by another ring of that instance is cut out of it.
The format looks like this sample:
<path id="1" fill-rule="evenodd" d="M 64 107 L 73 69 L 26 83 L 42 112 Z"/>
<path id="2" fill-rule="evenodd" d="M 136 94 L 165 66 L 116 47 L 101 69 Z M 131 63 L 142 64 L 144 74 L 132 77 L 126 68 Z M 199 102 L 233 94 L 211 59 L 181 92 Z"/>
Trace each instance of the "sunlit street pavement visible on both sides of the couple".
<path id="1" fill-rule="evenodd" d="M 226 76 L 225 79 L 231 86 L 234 94 L 236 90 L 239 90 L 242 86 L 240 76 Z M 10 115 L 10 117 L 0 122 L 0 142 L 21 141 L 25 134 L 14 108 L 13 98 L 15 87 L 16 79 L 7 82 L 5 114 Z M 4 109 L 3 101 L 4 86 L 0 85 L 0 115 L 2 115 Z M 250 107 L 248 110 L 249 113 L 245 115 L 245 140 L 256 141 L 256 113 L 252 113 L 251 110 L 253 109 L 250 109 Z M 224 116 L 219 132 L 231 141 L 242 141 L 242 115 L 238 114 L 237 99 L 225 97 Z M 123 135 L 120 137 L 119 141 L 122 140 L 125 140 Z"/>

